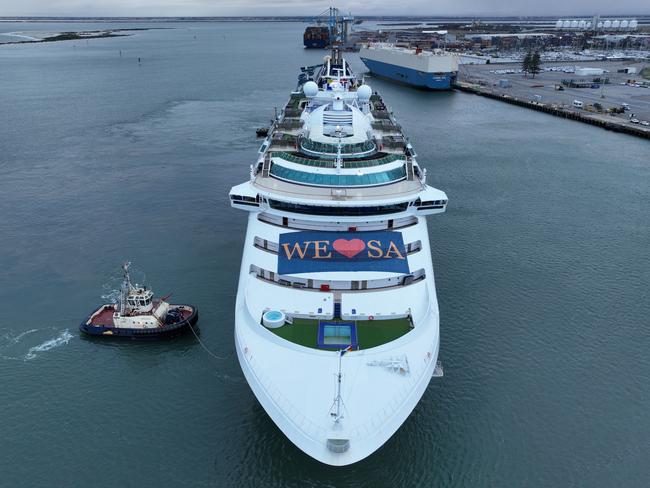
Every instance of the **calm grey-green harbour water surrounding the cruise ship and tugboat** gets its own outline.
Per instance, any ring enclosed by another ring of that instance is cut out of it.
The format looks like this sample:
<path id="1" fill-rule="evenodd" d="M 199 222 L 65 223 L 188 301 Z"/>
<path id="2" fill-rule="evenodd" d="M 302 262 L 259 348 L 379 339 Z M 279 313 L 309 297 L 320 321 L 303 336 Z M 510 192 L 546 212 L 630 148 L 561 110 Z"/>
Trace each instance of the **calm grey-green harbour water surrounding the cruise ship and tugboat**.
<path id="1" fill-rule="evenodd" d="M 445 377 L 373 456 L 331 468 L 240 371 L 246 215 L 227 200 L 324 52 L 297 23 L 155 27 L 0 46 L 0 486 L 648 486 L 647 141 L 369 80 L 450 199 L 429 226 Z M 127 259 L 199 307 L 223 359 L 191 335 L 79 336 Z"/>

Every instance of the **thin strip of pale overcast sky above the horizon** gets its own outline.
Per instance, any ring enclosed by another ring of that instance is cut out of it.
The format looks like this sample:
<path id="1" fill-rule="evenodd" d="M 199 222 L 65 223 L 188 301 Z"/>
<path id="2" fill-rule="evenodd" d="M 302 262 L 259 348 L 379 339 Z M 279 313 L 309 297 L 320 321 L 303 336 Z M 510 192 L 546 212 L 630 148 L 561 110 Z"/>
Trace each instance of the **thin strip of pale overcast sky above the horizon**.
<path id="1" fill-rule="evenodd" d="M 335 4 L 354 15 L 650 14 L 650 0 L 2 0 L 2 16 L 317 15 Z"/>

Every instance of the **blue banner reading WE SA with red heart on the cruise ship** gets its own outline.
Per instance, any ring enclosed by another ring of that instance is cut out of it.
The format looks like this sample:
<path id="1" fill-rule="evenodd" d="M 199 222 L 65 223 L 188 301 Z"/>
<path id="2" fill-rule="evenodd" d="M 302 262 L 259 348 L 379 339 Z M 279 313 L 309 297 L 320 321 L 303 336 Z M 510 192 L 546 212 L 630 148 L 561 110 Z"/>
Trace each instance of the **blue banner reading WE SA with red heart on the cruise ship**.
<path id="1" fill-rule="evenodd" d="M 400 232 L 280 234 L 278 273 L 391 271 L 409 273 Z"/>

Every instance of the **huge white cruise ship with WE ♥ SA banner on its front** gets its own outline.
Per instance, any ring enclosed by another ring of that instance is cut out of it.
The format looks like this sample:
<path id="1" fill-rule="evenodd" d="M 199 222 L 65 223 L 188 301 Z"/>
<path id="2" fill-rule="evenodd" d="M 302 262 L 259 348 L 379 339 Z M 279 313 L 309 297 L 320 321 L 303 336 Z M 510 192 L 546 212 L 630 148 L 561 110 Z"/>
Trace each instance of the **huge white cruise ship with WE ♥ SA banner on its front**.
<path id="1" fill-rule="evenodd" d="M 426 216 L 447 196 L 338 51 L 313 74 L 230 191 L 248 212 L 235 344 L 280 430 L 342 466 L 382 446 L 441 374 Z"/>

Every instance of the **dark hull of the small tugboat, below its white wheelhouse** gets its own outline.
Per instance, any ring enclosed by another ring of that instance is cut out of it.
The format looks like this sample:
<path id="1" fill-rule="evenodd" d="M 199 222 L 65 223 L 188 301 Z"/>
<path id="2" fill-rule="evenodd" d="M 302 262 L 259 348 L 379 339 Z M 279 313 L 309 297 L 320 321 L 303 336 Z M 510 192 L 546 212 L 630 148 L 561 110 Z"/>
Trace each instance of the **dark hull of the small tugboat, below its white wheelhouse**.
<path id="1" fill-rule="evenodd" d="M 172 305 L 172 308 L 179 308 L 183 312 L 181 320 L 155 328 L 126 328 L 115 327 L 112 318 L 102 320 L 102 314 L 107 315 L 108 312 L 107 306 L 102 305 L 79 325 L 79 330 L 95 337 L 167 339 L 187 332 L 199 320 L 199 311 L 193 305 Z"/>

